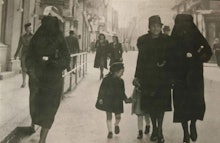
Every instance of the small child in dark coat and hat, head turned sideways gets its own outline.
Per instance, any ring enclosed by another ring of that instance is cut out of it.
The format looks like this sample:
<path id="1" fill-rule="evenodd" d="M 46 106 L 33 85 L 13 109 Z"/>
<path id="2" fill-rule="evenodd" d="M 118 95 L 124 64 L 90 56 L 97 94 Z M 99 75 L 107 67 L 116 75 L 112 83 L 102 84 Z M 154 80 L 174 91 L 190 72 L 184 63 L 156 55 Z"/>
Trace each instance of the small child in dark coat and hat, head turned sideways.
<path id="1" fill-rule="evenodd" d="M 121 113 L 123 110 L 123 100 L 129 103 L 129 99 L 125 95 L 124 81 L 121 78 L 124 72 L 124 64 L 117 62 L 111 65 L 109 74 L 103 79 L 96 108 L 106 111 L 108 138 L 113 137 L 112 133 L 112 113 L 115 113 L 115 134 L 119 134 L 119 122 L 121 120 Z"/>

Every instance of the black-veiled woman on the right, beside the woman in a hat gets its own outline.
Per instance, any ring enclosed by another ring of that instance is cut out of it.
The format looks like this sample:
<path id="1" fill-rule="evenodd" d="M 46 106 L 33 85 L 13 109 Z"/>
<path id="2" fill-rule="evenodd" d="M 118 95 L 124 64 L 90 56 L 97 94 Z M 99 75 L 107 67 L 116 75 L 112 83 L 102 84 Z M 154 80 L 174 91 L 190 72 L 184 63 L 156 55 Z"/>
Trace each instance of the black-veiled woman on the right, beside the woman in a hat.
<path id="1" fill-rule="evenodd" d="M 176 16 L 171 35 L 175 42 L 172 49 L 174 79 L 174 122 L 182 123 L 184 142 L 196 141 L 196 121 L 205 113 L 203 63 L 211 55 L 206 39 L 187 14 Z M 190 124 L 190 134 L 188 131 Z"/>

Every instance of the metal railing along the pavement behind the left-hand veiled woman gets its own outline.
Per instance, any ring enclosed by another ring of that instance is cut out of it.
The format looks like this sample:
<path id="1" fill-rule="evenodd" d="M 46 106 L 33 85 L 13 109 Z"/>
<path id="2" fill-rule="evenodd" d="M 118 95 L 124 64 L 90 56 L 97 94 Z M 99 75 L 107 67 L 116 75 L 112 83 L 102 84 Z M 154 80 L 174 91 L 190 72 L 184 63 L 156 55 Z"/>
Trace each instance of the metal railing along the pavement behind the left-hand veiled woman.
<path id="1" fill-rule="evenodd" d="M 87 52 L 71 54 L 71 64 L 74 64 L 74 67 L 71 67 L 69 71 L 63 73 L 63 93 L 67 93 L 72 89 L 76 88 L 78 83 L 85 77 L 87 74 Z M 74 61 L 76 60 L 76 61 Z"/>

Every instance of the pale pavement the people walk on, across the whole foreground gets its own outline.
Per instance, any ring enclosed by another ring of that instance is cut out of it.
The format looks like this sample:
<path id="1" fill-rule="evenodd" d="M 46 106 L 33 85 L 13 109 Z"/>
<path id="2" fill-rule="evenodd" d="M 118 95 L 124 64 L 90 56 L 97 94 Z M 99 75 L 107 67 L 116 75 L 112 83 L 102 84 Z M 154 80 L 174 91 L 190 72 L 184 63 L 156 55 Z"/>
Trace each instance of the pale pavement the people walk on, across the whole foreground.
<path id="1" fill-rule="evenodd" d="M 132 93 L 132 80 L 136 66 L 136 52 L 124 54 L 125 88 L 127 96 Z M 121 132 L 107 139 L 106 115 L 95 108 L 95 102 L 101 81 L 99 70 L 93 68 L 94 55 L 88 58 L 88 74 L 79 86 L 65 95 L 57 112 L 47 143 L 148 143 L 149 135 L 143 140 L 137 140 L 136 116 L 131 115 L 131 105 L 124 105 L 124 114 L 120 123 Z M 107 71 L 105 70 L 105 74 Z M 220 69 L 213 64 L 204 65 L 206 115 L 203 122 L 198 122 L 198 143 L 218 143 L 220 140 Z M 21 75 L 0 81 L 0 139 L 15 127 L 28 126 L 30 123 L 27 88 L 21 89 Z M 7 88 L 6 88 L 7 87 Z M 113 116 L 114 117 L 114 116 Z M 164 136 L 167 143 L 182 142 L 182 128 L 180 124 L 173 124 L 173 113 L 165 114 Z M 114 121 L 114 120 L 113 120 Z M 113 122 L 114 123 L 114 122 Z M 4 130 L 3 130 L 4 129 Z M 2 135 L 5 134 L 5 135 Z M 39 130 L 20 143 L 38 143 Z"/>

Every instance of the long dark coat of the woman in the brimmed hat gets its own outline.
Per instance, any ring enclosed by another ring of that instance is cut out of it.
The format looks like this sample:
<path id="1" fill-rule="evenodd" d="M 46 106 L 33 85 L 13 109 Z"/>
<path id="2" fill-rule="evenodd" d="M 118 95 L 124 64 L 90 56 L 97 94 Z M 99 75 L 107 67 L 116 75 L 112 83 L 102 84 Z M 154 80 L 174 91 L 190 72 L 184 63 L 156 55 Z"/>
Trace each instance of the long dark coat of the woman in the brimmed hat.
<path id="1" fill-rule="evenodd" d="M 160 34 L 152 38 L 145 34 L 138 38 L 138 60 L 135 77 L 140 81 L 141 109 L 146 112 L 161 112 L 171 110 L 169 76 L 166 64 L 159 67 L 158 63 L 167 61 L 169 39 Z"/>

